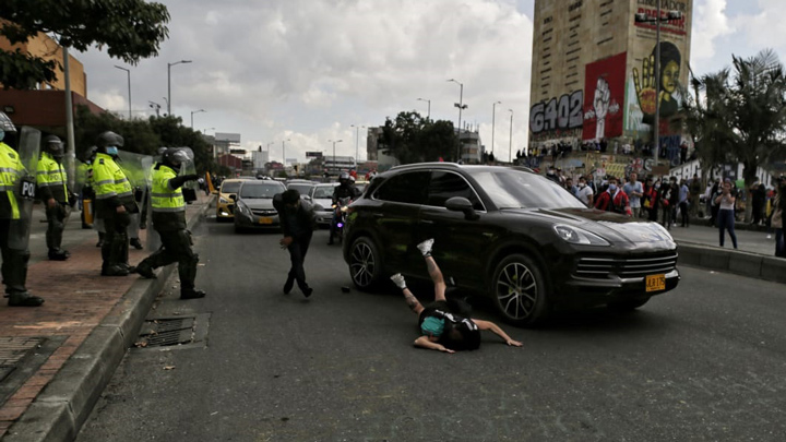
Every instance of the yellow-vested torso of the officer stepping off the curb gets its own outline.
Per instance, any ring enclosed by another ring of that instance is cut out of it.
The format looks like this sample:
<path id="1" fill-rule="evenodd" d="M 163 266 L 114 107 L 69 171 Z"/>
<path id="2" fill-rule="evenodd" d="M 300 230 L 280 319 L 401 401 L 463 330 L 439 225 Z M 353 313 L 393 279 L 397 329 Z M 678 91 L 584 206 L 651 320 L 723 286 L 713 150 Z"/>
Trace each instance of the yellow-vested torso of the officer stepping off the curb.
<path id="1" fill-rule="evenodd" d="M 186 228 L 186 200 L 182 189 L 172 189 L 170 180 L 177 172 L 169 166 L 158 164 L 153 169 L 151 205 L 153 207 L 153 227 L 159 231 Z"/>

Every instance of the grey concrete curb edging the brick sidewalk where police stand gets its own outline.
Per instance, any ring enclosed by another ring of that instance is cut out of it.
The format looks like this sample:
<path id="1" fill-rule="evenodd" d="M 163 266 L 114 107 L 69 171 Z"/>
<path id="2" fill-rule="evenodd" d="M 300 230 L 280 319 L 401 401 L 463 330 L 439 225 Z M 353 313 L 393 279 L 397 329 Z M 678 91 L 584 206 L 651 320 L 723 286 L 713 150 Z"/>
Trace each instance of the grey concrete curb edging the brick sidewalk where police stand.
<path id="1" fill-rule="evenodd" d="M 194 228 L 215 200 L 189 219 Z M 156 279 L 134 282 L 131 288 L 74 351 L 27 410 L 5 433 L 8 442 L 73 441 L 87 420 L 126 351 L 177 265 L 163 267 Z"/>

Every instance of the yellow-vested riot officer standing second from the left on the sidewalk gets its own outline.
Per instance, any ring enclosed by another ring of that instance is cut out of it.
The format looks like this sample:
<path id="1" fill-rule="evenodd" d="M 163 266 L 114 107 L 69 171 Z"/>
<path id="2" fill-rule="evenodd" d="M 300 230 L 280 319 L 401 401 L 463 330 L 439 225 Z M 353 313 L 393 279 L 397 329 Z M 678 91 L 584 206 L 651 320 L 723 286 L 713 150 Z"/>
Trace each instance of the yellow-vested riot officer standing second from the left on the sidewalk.
<path id="1" fill-rule="evenodd" d="M 46 241 L 49 259 L 66 261 L 71 253 L 60 248 L 66 222 L 71 213 L 66 169 L 62 166 L 63 144 L 56 135 L 44 139 L 44 150 L 38 159 L 36 186 L 38 198 L 46 204 Z"/>

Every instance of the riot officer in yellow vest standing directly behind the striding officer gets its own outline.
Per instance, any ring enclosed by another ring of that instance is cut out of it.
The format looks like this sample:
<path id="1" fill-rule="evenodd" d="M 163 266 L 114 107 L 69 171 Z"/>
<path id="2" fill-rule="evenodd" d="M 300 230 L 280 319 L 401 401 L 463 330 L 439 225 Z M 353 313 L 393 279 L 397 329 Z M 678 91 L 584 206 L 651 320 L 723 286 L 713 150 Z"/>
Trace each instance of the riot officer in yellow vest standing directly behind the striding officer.
<path id="1" fill-rule="evenodd" d="M 104 219 L 106 230 L 102 246 L 102 276 L 127 276 L 128 226 L 130 215 L 139 213 L 133 189 L 128 177 L 115 163 L 118 147 L 123 139 L 115 132 L 104 132 L 96 140 L 98 152 L 93 160 L 93 191 L 96 194 L 96 212 Z"/>

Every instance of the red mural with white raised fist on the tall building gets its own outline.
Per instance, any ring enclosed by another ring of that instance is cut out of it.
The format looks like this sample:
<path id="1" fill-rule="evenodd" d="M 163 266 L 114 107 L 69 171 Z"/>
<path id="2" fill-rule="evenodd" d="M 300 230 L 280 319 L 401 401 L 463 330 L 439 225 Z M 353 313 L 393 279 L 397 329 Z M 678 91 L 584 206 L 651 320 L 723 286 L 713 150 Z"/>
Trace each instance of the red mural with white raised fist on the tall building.
<path id="1" fill-rule="evenodd" d="M 585 67 L 584 141 L 622 135 L 626 62 L 622 52 Z"/>

